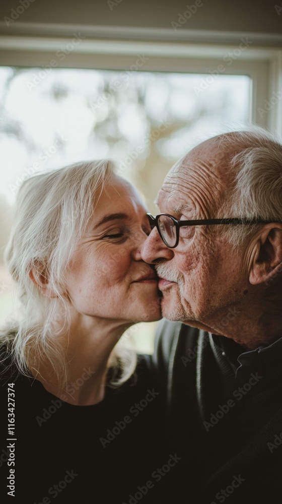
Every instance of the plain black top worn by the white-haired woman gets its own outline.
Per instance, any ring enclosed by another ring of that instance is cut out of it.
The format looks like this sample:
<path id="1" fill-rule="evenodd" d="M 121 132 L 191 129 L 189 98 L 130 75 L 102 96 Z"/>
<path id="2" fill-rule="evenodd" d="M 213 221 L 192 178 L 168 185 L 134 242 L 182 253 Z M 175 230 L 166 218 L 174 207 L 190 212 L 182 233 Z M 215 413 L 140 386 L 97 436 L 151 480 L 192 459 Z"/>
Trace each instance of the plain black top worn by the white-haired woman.
<path id="1" fill-rule="evenodd" d="M 60 401 L 37 380 L 17 374 L 2 366 L 2 503 L 134 504 L 134 494 L 144 503 L 164 502 L 163 477 L 154 471 L 170 454 L 162 451 L 162 395 L 149 356 L 139 357 L 135 383 L 107 387 L 93 406 Z"/>

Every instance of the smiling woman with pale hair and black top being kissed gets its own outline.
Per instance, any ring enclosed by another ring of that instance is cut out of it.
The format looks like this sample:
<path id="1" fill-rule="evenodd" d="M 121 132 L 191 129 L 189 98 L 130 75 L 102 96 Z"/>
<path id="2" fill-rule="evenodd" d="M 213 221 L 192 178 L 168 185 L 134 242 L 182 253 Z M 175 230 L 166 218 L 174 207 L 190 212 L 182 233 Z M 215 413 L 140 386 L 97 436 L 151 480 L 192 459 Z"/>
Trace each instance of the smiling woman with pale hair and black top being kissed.
<path id="1" fill-rule="evenodd" d="M 7 501 L 158 502 L 161 394 L 149 356 L 118 341 L 161 317 L 156 272 L 140 257 L 149 233 L 144 204 L 108 161 L 21 186 L 6 249 L 21 309 L 1 332 Z"/>

